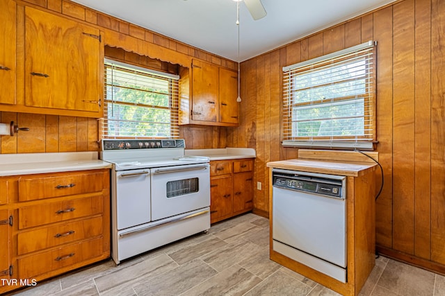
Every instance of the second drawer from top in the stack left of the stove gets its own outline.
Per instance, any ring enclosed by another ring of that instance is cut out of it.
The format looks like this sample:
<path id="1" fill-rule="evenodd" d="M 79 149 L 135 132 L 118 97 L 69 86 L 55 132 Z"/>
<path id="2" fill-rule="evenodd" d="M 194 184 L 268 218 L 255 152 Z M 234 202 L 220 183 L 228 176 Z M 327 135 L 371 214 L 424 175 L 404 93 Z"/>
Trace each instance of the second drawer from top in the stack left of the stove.
<path id="1" fill-rule="evenodd" d="M 102 193 L 88 198 L 35 204 L 19 209 L 19 229 L 102 214 Z"/>

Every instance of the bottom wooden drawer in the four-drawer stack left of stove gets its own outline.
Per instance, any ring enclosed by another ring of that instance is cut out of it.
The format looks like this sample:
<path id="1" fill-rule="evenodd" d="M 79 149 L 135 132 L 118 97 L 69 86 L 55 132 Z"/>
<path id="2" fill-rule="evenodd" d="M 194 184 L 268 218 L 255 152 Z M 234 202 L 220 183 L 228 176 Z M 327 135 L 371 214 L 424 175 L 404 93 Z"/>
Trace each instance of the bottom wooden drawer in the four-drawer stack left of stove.
<path id="1" fill-rule="evenodd" d="M 19 278 L 30 279 L 65 266 L 101 256 L 103 238 L 95 238 L 18 259 Z"/>

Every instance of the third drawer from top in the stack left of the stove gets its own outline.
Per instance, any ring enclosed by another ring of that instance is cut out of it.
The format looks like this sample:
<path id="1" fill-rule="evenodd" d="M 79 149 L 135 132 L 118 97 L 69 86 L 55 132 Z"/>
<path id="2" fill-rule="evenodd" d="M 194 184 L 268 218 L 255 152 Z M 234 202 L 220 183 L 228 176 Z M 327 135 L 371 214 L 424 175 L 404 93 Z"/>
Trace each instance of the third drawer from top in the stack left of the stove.
<path id="1" fill-rule="evenodd" d="M 102 234 L 102 216 L 73 223 L 22 232 L 17 236 L 18 254 L 55 247 L 63 243 L 80 241 Z"/>

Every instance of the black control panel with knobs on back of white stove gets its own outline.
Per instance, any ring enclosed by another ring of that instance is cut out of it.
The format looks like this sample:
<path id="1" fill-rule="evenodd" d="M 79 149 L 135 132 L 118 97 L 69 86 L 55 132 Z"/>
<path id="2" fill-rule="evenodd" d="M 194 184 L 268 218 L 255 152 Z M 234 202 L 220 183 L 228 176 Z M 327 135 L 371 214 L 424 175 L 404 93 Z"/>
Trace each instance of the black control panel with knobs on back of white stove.
<path id="1" fill-rule="evenodd" d="M 103 139 L 102 151 L 125 149 L 186 148 L 184 139 Z"/>

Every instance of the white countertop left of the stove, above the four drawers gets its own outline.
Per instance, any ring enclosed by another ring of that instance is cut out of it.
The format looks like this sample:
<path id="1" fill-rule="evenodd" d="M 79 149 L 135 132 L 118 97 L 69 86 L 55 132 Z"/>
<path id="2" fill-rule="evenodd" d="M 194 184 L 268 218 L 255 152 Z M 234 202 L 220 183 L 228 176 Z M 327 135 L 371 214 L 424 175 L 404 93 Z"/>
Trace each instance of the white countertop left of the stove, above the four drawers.
<path id="1" fill-rule="evenodd" d="M 97 152 L 0 154 L 0 176 L 111 168 Z"/>

